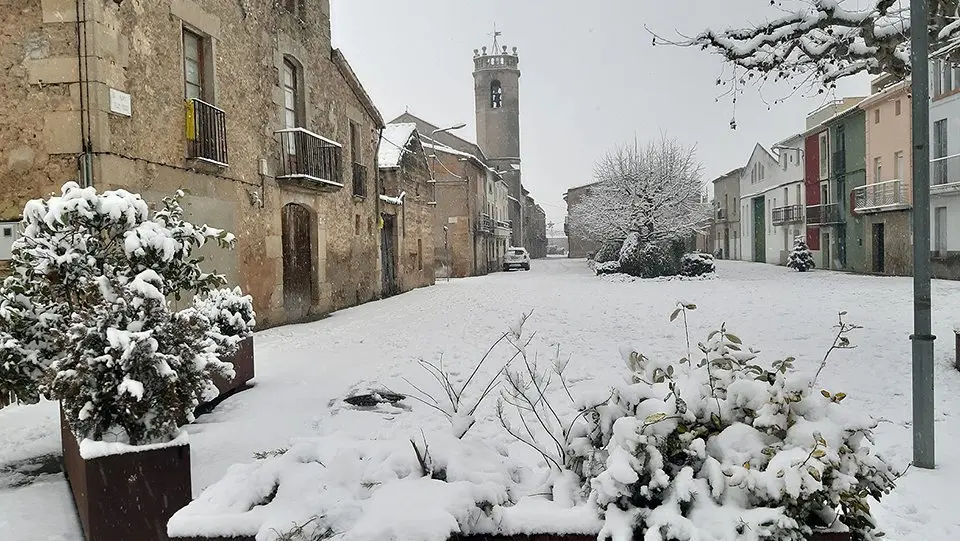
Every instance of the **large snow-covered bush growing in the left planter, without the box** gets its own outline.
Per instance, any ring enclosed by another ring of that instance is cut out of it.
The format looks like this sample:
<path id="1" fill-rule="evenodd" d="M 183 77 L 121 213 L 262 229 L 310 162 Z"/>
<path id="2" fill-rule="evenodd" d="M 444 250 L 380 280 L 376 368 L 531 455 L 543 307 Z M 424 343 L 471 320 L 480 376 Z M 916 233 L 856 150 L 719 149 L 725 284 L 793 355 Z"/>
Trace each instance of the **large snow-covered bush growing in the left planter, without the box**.
<path id="1" fill-rule="evenodd" d="M 217 373 L 213 333 L 248 332 L 252 311 L 231 300 L 216 325 L 170 297 L 205 295 L 225 280 L 204 273 L 196 250 L 233 235 L 183 219 L 178 192 L 151 212 L 125 190 L 69 182 L 62 195 L 27 203 L 12 275 L 0 288 L 0 387 L 21 400 L 61 401 L 78 439 L 164 442 L 193 419 Z M 208 298 L 227 299 L 226 294 Z M 226 325 L 223 328 L 221 325 Z"/>

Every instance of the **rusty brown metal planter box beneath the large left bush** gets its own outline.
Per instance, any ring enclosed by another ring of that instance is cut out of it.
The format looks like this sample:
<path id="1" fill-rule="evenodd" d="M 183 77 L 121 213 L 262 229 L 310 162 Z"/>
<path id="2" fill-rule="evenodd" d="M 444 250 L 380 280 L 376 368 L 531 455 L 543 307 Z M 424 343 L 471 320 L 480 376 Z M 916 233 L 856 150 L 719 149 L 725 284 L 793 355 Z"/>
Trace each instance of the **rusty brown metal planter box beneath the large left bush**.
<path id="1" fill-rule="evenodd" d="M 167 521 L 190 503 L 190 446 L 85 460 L 60 410 L 64 473 L 87 541 L 168 541 Z"/>

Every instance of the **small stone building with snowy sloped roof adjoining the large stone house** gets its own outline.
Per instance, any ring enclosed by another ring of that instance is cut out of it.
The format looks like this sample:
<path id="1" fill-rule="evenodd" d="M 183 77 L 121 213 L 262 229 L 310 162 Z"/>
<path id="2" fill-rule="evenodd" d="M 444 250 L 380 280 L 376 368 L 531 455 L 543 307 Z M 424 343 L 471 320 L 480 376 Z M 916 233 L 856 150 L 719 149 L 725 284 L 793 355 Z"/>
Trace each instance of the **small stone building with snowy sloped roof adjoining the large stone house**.
<path id="1" fill-rule="evenodd" d="M 383 296 L 433 285 L 435 183 L 417 125 L 388 124 L 378 153 Z"/>

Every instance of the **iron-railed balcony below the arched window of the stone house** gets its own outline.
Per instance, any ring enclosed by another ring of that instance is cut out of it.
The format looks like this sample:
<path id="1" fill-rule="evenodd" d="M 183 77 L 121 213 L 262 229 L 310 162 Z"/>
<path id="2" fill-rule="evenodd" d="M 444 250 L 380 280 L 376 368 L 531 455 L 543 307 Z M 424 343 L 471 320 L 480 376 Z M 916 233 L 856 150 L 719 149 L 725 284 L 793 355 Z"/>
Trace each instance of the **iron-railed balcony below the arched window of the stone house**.
<path id="1" fill-rule="evenodd" d="M 328 189 L 343 188 L 343 148 L 304 128 L 287 128 L 280 135 L 278 179 L 302 180 Z"/>

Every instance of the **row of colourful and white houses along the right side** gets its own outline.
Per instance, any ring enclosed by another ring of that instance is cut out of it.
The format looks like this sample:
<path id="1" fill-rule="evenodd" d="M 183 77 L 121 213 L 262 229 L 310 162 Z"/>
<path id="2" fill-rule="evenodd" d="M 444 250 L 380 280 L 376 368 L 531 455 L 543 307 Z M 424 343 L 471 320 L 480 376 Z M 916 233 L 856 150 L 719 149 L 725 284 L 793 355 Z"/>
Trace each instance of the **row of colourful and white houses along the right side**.
<path id="1" fill-rule="evenodd" d="M 913 271 L 910 80 L 883 75 L 868 96 L 832 101 L 805 130 L 713 180 L 714 215 L 701 248 L 725 259 L 783 265 L 802 235 L 819 268 Z M 953 136 L 951 136 L 953 134 Z M 960 278 L 960 67 L 931 62 L 931 258 Z"/>

